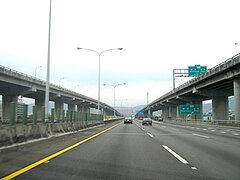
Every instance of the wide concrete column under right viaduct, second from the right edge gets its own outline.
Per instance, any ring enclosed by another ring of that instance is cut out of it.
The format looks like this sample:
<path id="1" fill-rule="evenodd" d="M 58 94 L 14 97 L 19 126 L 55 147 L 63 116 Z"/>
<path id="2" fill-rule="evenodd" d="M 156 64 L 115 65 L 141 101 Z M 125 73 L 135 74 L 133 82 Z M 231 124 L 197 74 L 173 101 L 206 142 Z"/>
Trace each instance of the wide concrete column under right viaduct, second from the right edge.
<path id="1" fill-rule="evenodd" d="M 212 98 L 213 120 L 228 120 L 229 107 L 228 96 L 217 96 Z"/>

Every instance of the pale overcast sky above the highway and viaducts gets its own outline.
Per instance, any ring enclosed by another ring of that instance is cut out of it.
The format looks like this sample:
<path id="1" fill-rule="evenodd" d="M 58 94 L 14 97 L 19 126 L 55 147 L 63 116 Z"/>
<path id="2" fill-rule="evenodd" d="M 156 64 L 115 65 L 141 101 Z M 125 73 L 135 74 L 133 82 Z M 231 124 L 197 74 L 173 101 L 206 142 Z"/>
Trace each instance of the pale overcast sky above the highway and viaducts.
<path id="1" fill-rule="evenodd" d="M 0 0 L 0 64 L 46 80 L 49 0 Z M 101 101 L 144 105 L 174 68 L 211 68 L 240 52 L 239 0 L 52 0 L 50 81 Z M 64 79 L 62 79 L 64 78 Z M 176 86 L 186 78 L 177 78 Z M 188 79 L 189 80 L 189 79 Z M 126 100 L 127 99 L 127 100 Z"/>

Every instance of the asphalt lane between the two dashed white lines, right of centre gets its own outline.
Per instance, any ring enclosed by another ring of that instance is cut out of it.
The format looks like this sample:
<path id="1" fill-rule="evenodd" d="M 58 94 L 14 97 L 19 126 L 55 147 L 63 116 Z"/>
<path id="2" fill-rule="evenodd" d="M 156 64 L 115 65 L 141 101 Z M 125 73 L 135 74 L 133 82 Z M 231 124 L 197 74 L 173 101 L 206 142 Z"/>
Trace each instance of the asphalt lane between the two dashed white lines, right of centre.
<path id="1" fill-rule="evenodd" d="M 239 179 L 239 142 L 224 143 L 211 137 L 195 136 L 191 129 L 177 129 L 155 123 L 153 127 L 144 126 L 144 129 L 160 144 L 167 144 L 181 154 L 201 174 L 218 179 Z"/>

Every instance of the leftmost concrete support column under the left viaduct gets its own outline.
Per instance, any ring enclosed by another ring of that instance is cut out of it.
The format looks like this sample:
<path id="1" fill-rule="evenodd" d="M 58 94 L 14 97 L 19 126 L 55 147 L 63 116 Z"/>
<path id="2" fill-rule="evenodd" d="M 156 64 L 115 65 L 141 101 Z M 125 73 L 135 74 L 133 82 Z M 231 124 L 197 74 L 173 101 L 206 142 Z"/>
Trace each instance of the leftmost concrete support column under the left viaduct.
<path id="1" fill-rule="evenodd" d="M 17 103 L 17 101 L 18 101 L 18 96 L 16 96 L 16 95 L 3 95 L 2 96 L 2 118 L 3 118 L 3 122 L 7 122 L 9 120 L 10 103 L 11 102 L 16 102 Z"/>

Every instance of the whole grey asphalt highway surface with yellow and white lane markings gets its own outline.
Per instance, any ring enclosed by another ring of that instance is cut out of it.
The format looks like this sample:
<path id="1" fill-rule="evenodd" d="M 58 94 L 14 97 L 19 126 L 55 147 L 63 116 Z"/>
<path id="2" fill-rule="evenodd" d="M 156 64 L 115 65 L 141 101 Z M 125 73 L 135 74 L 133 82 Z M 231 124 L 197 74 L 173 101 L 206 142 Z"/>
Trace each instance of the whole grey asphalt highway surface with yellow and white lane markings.
<path id="1" fill-rule="evenodd" d="M 41 148 L 57 146 L 58 150 L 43 153 L 45 159 L 32 159 L 21 171 L 11 171 L 16 179 L 240 179 L 239 129 L 153 122 L 153 126 L 142 126 L 139 120 L 133 124 L 120 121 L 65 136 L 64 141 L 52 139 L 52 146 L 48 141 L 27 145 L 38 150 L 36 156 Z M 66 152 L 60 151 L 69 146 Z M 14 157 L 0 160 L 9 167 L 14 163 Z M 1 172 L 5 176 L 0 177 L 11 176 L 7 170 Z"/>

